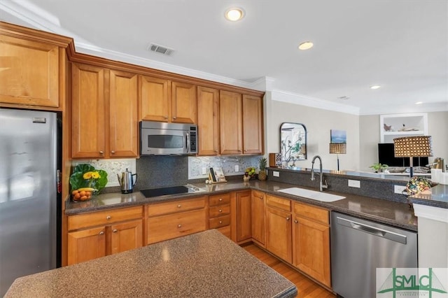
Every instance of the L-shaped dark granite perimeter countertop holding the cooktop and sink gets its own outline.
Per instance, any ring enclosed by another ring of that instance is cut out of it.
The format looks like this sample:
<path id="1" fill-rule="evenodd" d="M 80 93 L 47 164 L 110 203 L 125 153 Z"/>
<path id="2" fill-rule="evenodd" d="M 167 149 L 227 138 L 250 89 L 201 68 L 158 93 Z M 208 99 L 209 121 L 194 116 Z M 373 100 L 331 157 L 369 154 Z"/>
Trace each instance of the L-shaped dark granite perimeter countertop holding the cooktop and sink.
<path id="1" fill-rule="evenodd" d="M 92 199 L 91 201 L 67 201 L 65 213 L 67 215 L 73 215 L 78 213 L 105 210 L 108 208 L 139 206 L 143 204 L 158 203 L 160 201 L 186 199 L 188 197 L 197 197 L 200 195 L 254 189 L 260 190 L 262 192 L 267 192 L 269 194 L 276 194 L 278 196 L 286 197 L 288 199 L 293 199 L 296 201 L 303 201 L 315 206 L 321 206 L 323 208 L 328 208 L 329 210 L 358 216 L 359 218 L 374 220 L 386 225 L 392 225 L 394 227 L 401 227 L 403 229 L 417 231 L 417 218 L 414 216 L 414 212 L 412 211 L 410 205 L 388 201 L 385 199 L 376 199 L 371 197 L 358 196 L 356 194 L 345 194 L 341 192 L 332 192 L 325 190 L 325 192 L 328 192 L 330 194 L 338 194 L 346 197 L 346 199 L 342 199 L 340 201 L 327 203 L 278 192 L 278 190 L 284 188 L 298 186 L 274 181 L 250 180 L 249 182 L 244 183 L 241 180 L 230 180 L 228 183 L 218 183 L 213 185 L 205 183 L 195 183 L 195 185 L 202 188 L 202 190 L 204 191 L 194 194 L 153 197 L 148 199 L 145 198 L 139 191 L 134 191 L 132 194 L 121 194 L 119 192 L 99 194 L 98 197 Z M 302 186 L 300 187 L 309 188 Z"/>

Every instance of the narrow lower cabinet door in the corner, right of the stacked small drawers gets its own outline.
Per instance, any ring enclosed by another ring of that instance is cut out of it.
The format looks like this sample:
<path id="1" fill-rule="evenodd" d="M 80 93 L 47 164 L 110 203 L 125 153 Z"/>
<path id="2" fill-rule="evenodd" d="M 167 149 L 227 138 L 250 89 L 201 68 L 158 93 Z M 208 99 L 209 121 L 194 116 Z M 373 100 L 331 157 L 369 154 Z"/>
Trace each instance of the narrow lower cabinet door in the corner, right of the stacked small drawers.
<path id="1" fill-rule="evenodd" d="M 251 192 L 237 192 L 237 242 L 252 238 Z"/>

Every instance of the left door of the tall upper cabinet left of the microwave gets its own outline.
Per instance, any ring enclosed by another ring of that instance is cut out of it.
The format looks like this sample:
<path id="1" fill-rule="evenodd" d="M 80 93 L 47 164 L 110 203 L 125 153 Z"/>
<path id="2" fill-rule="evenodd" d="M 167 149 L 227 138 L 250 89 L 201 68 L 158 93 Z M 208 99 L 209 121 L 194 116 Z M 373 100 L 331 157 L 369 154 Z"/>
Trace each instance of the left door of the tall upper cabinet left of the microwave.
<path id="1" fill-rule="evenodd" d="M 106 71 L 73 63 L 71 73 L 71 157 L 104 157 Z"/>

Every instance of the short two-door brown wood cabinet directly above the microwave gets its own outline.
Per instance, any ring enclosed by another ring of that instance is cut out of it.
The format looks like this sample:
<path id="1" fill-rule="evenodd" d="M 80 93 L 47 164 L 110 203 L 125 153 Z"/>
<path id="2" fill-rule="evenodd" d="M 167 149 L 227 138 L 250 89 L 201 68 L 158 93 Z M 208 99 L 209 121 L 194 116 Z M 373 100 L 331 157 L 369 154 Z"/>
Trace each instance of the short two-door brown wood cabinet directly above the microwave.
<path id="1" fill-rule="evenodd" d="M 196 85 L 139 76 L 139 120 L 197 122 Z"/>

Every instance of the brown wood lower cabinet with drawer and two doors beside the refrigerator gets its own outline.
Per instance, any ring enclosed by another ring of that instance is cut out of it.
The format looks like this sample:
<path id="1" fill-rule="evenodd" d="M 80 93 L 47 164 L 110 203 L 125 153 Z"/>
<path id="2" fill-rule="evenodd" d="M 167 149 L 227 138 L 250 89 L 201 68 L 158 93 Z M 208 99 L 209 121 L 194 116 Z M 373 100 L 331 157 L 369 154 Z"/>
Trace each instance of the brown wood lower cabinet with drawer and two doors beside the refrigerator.
<path id="1" fill-rule="evenodd" d="M 143 246 L 142 218 L 142 206 L 69 216 L 67 264 Z"/>

